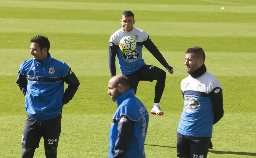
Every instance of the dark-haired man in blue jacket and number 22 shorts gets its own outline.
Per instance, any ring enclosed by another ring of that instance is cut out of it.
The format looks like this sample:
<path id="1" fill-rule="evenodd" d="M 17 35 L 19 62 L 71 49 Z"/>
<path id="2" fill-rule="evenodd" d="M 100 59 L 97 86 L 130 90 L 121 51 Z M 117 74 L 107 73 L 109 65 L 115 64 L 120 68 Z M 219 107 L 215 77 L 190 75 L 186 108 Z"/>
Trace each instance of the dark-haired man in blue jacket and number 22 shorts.
<path id="1" fill-rule="evenodd" d="M 80 83 L 65 62 L 51 58 L 47 37 L 38 35 L 30 42 L 33 58 L 20 65 L 16 80 L 25 96 L 28 113 L 21 140 L 22 157 L 34 156 L 41 137 L 45 156 L 57 157 L 62 107 L 73 98 Z M 64 82 L 68 84 L 65 93 Z"/>

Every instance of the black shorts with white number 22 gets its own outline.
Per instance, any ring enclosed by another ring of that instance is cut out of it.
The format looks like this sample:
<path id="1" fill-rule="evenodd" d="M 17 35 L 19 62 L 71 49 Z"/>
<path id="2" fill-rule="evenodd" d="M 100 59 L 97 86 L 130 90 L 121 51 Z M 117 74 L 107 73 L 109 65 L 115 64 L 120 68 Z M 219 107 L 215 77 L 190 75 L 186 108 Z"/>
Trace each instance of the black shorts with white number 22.
<path id="1" fill-rule="evenodd" d="M 38 148 L 41 137 L 44 138 L 45 147 L 57 149 L 61 129 L 61 114 L 50 120 L 38 121 L 27 115 L 21 144 Z"/>

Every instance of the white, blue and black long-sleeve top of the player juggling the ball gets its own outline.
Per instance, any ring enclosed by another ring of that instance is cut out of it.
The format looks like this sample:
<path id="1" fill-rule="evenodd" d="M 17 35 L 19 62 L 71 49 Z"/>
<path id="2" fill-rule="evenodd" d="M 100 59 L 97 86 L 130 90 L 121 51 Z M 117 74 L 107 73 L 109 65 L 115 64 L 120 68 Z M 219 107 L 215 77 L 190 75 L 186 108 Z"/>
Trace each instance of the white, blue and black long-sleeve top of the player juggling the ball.
<path id="1" fill-rule="evenodd" d="M 137 43 L 135 50 L 131 53 L 124 53 L 119 48 L 119 41 L 125 36 L 133 37 Z M 121 28 L 111 35 L 109 40 L 109 69 L 111 76 L 116 75 L 115 56 L 118 59 L 120 73 L 124 75 L 132 74 L 145 65 L 142 58 L 143 45 L 165 68 L 172 69 L 145 31 L 133 27 L 132 31 L 127 32 Z"/>

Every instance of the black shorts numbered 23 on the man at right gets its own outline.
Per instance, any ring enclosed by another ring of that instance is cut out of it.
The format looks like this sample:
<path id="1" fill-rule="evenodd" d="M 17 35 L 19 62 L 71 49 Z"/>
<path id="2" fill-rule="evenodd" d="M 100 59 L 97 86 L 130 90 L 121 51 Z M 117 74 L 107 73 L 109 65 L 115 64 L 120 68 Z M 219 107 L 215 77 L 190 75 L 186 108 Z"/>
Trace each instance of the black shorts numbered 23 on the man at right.
<path id="1" fill-rule="evenodd" d="M 177 156 L 206 158 L 210 137 L 191 137 L 177 133 Z"/>

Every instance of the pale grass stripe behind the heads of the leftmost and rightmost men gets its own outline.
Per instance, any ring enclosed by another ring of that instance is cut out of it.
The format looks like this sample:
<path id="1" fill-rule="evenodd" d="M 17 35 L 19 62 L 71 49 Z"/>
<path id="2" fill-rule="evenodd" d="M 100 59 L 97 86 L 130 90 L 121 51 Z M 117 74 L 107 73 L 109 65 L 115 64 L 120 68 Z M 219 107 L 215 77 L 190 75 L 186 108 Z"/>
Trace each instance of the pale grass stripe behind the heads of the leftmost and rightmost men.
<path id="1" fill-rule="evenodd" d="M 175 68 L 175 76 L 186 76 L 185 71 L 185 50 L 183 51 L 162 51 L 166 61 Z M 6 52 L 13 52 L 6 54 Z M 30 49 L 0 49 L 0 58 L 7 58 L 13 61 L 9 65 L 9 60 L 3 60 L 0 66 L 0 74 L 3 76 L 16 75 L 19 65 L 24 60 L 32 58 Z M 107 50 L 63 50 L 50 49 L 51 56 L 60 61 L 65 61 L 78 76 L 108 76 L 108 52 Z M 209 72 L 218 76 L 256 76 L 256 53 L 242 52 L 209 52 L 205 49 L 206 66 Z M 147 64 L 164 67 L 147 50 L 143 51 L 143 58 Z M 227 61 L 236 63 L 226 66 Z M 8 71 L 6 71 L 8 65 Z M 83 71 L 86 70 L 86 71 Z M 241 73 L 238 73 L 241 72 Z M 116 72 L 119 73 L 117 61 Z"/>

